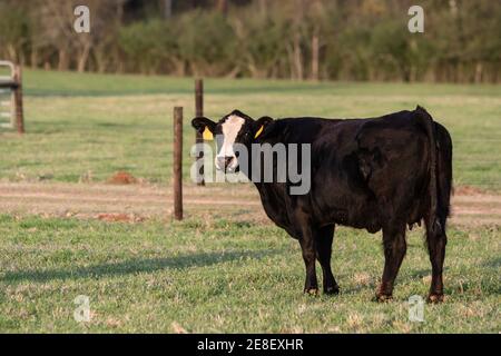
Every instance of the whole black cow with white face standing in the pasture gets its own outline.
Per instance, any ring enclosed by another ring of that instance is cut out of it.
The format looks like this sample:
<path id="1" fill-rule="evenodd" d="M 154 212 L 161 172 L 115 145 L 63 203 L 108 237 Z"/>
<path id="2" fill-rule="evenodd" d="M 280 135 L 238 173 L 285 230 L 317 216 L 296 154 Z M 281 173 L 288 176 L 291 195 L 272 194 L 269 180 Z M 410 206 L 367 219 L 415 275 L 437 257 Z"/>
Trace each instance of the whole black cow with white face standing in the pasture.
<path id="1" fill-rule="evenodd" d="M 322 265 L 324 293 L 340 290 L 331 270 L 338 224 L 370 233 L 383 230 L 385 264 L 376 298 L 390 299 L 406 251 L 406 226 L 423 220 L 432 265 L 429 300 L 443 300 L 452 141 L 448 130 L 423 108 L 347 120 L 254 120 L 235 110 L 217 123 L 207 118 L 195 118 L 191 123 L 200 132 L 219 135 L 218 169 L 238 168 L 238 155 L 232 149 L 235 144 L 249 150 L 252 144 L 311 144 L 307 194 L 291 195 L 289 181 L 255 182 L 267 216 L 299 240 L 306 266 L 305 293 L 317 293 L 315 259 Z M 249 169 L 244 174 L 250 177 Z"/>

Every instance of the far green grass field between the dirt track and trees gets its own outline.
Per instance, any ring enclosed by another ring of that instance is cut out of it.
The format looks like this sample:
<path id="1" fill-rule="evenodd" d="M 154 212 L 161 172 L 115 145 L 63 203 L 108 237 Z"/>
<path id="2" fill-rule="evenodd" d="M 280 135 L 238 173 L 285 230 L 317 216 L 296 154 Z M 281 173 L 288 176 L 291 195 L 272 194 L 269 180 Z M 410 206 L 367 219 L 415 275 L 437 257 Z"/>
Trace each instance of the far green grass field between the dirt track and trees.
<path id="1" fill-rule="evenodd" d="M 205 87 L 205 113 L 215 119 L 234 108 L 256 118 L 371 117 L 423 105 L 451 131 L 455 184 L 501 191 L 500 86 L 208 79 Z M 191 79 L 26 70 L 24 88 L 28 134 L 0 134 L 0 179 L 105 181 L 127 170 L 167 182 L 174 106 L 185 108 L 188 179 Z"/>

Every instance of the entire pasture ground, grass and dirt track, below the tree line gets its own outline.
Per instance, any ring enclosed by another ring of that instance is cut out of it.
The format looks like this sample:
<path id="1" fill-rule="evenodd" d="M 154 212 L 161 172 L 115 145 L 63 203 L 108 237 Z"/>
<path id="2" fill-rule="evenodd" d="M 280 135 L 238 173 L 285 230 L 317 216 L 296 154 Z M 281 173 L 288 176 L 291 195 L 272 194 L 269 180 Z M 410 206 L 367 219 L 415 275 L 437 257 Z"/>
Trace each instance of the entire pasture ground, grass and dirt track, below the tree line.
<path id="1" fill-rule="evenodd" d="M 442 305 L 425 297 L 421 228 L 409 234 L 395 300 L 371 301 L 381 234 L 340 227 L 342 294 L 301 293 L 298 244 L 249 185 L 196 187 L 193 80 L 27 71 L 24 137 L 0 131 L 0 332 L 489 332 L 500 327 L 501 88 L 207 80 L 206 115 L 364 117 L 420 103 L 454 142 Z M 185 220 L 173 221 L 171 111 L 185 107 Z M 119 185 L 124 184 L 124 185 Z M 318 270 L 320 273 L 320 270 Z M 73 303 L 90 299 L 90 320 Z"/>

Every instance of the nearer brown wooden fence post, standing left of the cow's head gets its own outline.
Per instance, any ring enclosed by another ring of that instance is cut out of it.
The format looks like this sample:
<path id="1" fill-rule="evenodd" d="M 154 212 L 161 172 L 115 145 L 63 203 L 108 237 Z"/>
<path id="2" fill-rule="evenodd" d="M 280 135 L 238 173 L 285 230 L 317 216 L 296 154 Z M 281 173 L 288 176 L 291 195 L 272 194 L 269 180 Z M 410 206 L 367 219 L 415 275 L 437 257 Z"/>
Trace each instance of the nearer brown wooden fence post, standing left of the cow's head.
<path id="1" fill-rule="evenodd" d="M 183 108 L 174 108 L 174 218 L 183 220 Z"/>

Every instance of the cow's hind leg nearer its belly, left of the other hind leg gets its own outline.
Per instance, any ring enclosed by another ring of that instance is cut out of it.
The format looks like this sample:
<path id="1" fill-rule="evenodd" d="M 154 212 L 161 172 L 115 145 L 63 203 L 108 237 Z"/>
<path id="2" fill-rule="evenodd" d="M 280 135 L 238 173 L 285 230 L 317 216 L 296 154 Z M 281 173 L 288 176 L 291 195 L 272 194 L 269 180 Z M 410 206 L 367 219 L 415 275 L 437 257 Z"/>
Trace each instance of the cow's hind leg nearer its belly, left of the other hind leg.
<path id="1" fill-rule="evenodd" d="M 405 256 L 407 244 L 405 241 L 405 224 L 393 224 L 383 227 L 384 270 L 377 300 L 392 298 L 393 284 L 399 274 L 400 265 Z"/>

